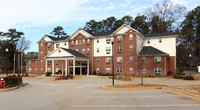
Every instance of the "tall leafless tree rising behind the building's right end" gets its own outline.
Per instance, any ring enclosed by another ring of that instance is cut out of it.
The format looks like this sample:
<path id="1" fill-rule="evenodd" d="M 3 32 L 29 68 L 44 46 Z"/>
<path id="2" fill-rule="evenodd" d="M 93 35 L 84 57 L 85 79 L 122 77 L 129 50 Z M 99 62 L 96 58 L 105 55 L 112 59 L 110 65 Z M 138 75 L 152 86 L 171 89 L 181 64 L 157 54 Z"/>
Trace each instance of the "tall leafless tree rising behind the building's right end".
<path id="1" fill-rule="evenodd" d="M 171 31 L 173 23 L 186 14 L 185 10 L 184 6 L 174 4 L 171 0 L 164 0 L 146 8 L 144 13 L 149 19 L 152 33 L 162 33 Z"/>

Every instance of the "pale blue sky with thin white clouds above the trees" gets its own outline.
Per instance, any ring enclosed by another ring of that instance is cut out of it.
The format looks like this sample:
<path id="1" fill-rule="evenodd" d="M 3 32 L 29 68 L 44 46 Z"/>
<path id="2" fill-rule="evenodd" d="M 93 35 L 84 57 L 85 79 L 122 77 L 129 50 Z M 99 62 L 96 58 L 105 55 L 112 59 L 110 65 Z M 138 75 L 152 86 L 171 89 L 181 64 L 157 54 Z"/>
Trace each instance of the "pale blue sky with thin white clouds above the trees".
<path id="1" fill-rule="evenodd" d="M 0 0 L 0 31 L 15 28 L 31 41 L 29 51 L 38 51 L 37 42 L 54 27 L 62 26 L 71 35 L 91 19 L 96 21 L 124 15 L 133 18 L 162 0 Z M 172 0 L 191 11 L 200 0 Z"/>

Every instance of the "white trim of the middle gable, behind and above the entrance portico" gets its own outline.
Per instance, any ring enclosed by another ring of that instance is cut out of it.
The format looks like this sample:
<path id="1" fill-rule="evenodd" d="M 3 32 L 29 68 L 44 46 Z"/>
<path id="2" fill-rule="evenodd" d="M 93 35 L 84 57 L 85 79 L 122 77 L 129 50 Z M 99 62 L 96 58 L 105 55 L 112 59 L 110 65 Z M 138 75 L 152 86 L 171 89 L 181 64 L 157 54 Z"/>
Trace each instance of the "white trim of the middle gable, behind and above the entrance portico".
<path id="1" fill-rule="evenodd" d="M 85 38 L 93 37 L 91 34 L 86 32 L 85 30 L 79 28 L 71 36 L 69 36 L 68 39 L 74 39 L 78 34 L 83 35 Z"/>

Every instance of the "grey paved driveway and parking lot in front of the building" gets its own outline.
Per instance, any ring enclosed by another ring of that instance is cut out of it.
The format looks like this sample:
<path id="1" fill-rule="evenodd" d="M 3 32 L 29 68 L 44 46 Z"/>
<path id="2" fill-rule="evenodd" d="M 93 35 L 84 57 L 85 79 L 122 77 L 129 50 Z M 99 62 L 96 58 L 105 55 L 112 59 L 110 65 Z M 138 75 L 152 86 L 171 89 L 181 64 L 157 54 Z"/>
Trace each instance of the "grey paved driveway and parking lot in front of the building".
<path id="1" fill-rule="evenodd" d="M 0 110 L 199 110 L 200 101 L 160 89 L 103 90 L 111 81 L 27 79 L 29 85 L 0 93 Z"/>

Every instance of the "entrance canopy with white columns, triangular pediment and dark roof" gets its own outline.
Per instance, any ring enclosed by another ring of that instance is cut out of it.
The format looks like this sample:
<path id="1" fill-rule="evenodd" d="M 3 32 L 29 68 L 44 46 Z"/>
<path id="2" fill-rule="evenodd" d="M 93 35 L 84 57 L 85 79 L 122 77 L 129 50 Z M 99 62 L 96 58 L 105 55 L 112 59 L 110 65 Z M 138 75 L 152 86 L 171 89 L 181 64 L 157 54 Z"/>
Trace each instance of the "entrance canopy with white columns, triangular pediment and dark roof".
<path id="1" fill-rule="evenodd" d="M 48 54 L 47 56 L 44 57 L 44 59 L 46 60 L 46 65 L 45 65 L 45 69 L 47 72 L 47 61 L 51 60 L 52 61 L 52 75 L 54 75 L 54 60 L 64 60 L 65 61 L 65 75 L 67 75 L 67 73 L 69 74 L 69 68 L 73 67 L 73 76 L 75 76 L 75 67 L 76 61 L 82 62 L 82 61 L 87 61 L 87 74 L 89 75 L 89 58 L 85 55 L 83 55 L 80 52 L 77 52 L 75 50 L 71 50 L 71 49 L 66 49 L 66 48 L 58 48 L 56 50 L 54 50 L 53 52 L 51 52 L 50 54 Z M 68 60 L 72 60 L 73 61 L 73 66 L 68 66 Z M 83 65 L 79 65 L 80 67 L 80 75 L 82 75 L 82 67 Z M 68 71 L 67 71 L 68 70 Z"/>

